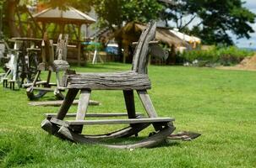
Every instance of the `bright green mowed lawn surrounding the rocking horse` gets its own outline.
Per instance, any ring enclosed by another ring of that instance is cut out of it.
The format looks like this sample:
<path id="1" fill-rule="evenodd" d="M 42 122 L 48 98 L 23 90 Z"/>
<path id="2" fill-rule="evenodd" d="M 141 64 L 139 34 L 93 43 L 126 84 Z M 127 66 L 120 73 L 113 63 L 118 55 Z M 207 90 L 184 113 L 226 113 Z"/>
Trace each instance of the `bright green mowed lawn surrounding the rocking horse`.
<path id="1" fill-rule="evenodd" d="M 130 65 L 74 69 L 123 71 Z M 41 129 L 43 114 L 56 113 L 58 108 L 31 107 L 25 89 L 11 91 L 1 86 L 0 167 L 256 167 L 256 71 L 150 66 L 149 76 L 149 93 L 158 115 L 176 118 L 176 132 L 198 132 L 202 134 L 199 139 L 168 141 L 153 149 L 133 151 L 72 144 Z M 135 98 L 137 111 L 144 113 L 137 95 Z M 123 92 L 95 91 L 91 99 L 101 106 L 90 107 L 89 113 L 125 112 Z M 75 110 L 71 108 L 73 113 Z M 84 131 L 91 134 L 117 128 L 122 126 Z"/>

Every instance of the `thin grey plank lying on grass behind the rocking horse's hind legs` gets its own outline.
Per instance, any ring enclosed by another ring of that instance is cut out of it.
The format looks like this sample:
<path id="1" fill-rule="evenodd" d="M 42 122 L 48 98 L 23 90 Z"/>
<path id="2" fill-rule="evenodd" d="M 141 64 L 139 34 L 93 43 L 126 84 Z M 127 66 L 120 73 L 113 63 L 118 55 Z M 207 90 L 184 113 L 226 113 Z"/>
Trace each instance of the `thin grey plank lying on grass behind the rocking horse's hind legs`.
<path id="1" fill-rule="evenodd" d="M 63 104 L 63 100 L 56 100 L 56 101 L 43 101 L 43 102 L 29 102 L 30 106 L 61 106 Z M 73 105 L 78 105 L 79 100 L 74 100 Z M 89 102 L 90 106 L 98 106 L 100 105 L 100 102 L 90 100 Z"/>

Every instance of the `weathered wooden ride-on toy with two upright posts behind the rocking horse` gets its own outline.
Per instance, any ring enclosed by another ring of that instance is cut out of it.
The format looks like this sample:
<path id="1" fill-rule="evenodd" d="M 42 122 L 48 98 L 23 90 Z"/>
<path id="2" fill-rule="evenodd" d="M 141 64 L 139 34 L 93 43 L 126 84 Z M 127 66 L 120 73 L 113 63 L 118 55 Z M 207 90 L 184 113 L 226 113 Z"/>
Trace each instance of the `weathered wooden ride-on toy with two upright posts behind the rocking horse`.
<path id="1" fill-rule="evenodd" d="M 24 85 L 28 87 L 26 92 L 30 100 L 43 97 L 47 92 L 54 92 L 57 99 L 64 99 L 63 91 L 65 90 L 66 78 L 68 73 L 75 73 L 68 70 L 69 65 L 67 59 L 68 35 L 60 34 L 57 40 L 57 49 L 54 56 L 52 40 L 44 34 L 42 41 L 42 62 L 38 66 L 35 79 L 32 83 Z M 55 57 L 55 58 L 54 58 Z M 46 81 L 40 81 L 41 71 L 48 71 Z M 51 83 L 52 71 L 56 73 L 56 83 Z M 63 75 L 60 73 L 63 72 Z M 42 86 L 42 87 L 40 87 Z M 55 88 L 52 88 L 55 87 Z M 36 93 L 35 93 L 36 92 Z"/>

